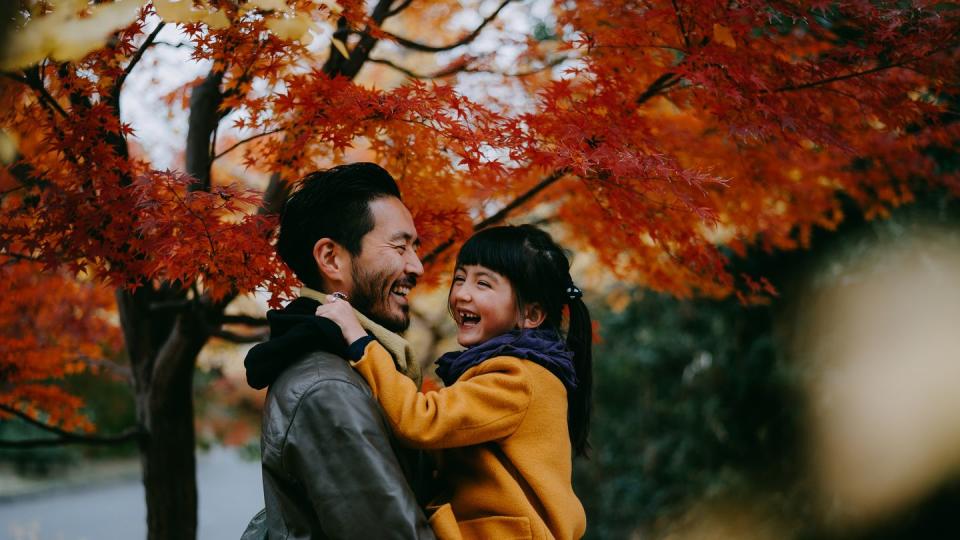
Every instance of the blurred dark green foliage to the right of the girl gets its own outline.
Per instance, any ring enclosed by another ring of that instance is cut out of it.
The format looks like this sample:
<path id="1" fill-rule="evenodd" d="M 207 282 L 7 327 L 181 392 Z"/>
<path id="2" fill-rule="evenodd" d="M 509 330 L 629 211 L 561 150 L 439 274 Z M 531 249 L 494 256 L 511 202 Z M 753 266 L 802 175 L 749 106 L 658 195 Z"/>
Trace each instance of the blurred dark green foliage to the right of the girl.
<path id="1" fill-rule="evenodd" d="M 954 154 L 941 159 L 956 166 Z M 871 249 L 930 227 L 960 238 L 958 210 L 952 194 L 924 189 L 886 219 L 866 221 L 850 204 L 843 225 L 818 231 L 808 250 L 737 260 L 740 272 L 776 287 L 759 304 L 624 287 L 594 302 L 602 341 L 593 448 L 574 475 L 587 538 L 960 538 L 956 471 L 866 521 L 847 519 L 856 509 L 840 502 L 824 504 L 805 391 L 817 366 L 790 352 L 812 289 L 855 281 L 852 263 Z"/>

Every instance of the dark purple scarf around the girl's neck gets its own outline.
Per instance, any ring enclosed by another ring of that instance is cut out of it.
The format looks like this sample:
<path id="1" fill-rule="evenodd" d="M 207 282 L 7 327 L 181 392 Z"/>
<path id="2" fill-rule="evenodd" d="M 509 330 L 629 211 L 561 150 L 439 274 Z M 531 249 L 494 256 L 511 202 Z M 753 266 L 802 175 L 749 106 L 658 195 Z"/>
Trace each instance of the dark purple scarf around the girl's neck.
<path id="1" fill-rule="evenodd" d="M 443 384 L 450 386 L 465 371 L 495 356 L 530 360 L 556 375 L 567 391 L 577 388 L 573 351 L 567 348 L 560 333 L 552 329 L 512 330 L 465 351 L 448 352 L 437 360 L 437 375 Z"/>

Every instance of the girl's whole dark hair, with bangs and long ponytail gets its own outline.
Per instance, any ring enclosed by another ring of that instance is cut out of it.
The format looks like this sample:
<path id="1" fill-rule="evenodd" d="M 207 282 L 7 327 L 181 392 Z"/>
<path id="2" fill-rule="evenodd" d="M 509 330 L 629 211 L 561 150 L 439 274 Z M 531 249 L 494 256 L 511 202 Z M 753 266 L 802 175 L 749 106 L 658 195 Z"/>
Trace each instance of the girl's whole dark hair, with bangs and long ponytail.
<path id="1" fill-rule="evenodd" d="M 573 450 L 585 456 L 590 446 L 593 325 L 579 294 L 569 292 L 573 280 L 563 248 L 533 225 L 491 227 L 470 237 L 460 249 L 457 267 L 469 265 L 485 266 L 507 278 L 521 309 L 539 304 L 546 314 L 541 328 L 562 332 L 563 306 L 570 306 L 567 346 L 574 353 L 578 383 L 568 395 L 567 420 Z"/>

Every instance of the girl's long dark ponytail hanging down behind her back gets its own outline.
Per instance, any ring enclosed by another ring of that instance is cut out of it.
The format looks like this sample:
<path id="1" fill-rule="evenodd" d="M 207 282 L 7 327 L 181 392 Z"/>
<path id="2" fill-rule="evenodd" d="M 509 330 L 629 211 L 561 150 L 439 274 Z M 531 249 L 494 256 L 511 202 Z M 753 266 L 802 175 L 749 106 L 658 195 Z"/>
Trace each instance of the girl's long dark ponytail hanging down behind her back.
<path id="1" fill-rule="evenodd" d="M 567 329 L 567 347 L 573 351 L 573 367 L 577 372 L 577 389 L 568 399 L 567 424 L 574 455 L 586 456 L 590 449 L 590 413 L 593 407 L 593 323 L 590 310 L 576 295 L 567 304 L 570 321 Z"/>

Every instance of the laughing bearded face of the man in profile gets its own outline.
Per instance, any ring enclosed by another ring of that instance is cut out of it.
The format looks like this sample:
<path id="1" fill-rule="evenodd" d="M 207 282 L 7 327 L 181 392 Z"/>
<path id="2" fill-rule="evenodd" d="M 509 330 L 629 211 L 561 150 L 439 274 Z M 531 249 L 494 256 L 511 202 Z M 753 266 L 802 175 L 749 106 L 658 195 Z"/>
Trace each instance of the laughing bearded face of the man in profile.
<path id="1" fill-rule="evenodd" d="M 350 303 L 388 330 L 401 332 L 410 325 L 407 295 L 423 274 L 417 256 L 420 240 L 410 211 L 399 199 L 371 201 L 370 213 L 373 230 L 352 258 Z"/>

